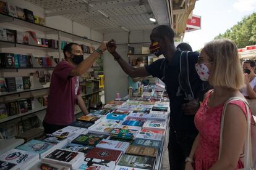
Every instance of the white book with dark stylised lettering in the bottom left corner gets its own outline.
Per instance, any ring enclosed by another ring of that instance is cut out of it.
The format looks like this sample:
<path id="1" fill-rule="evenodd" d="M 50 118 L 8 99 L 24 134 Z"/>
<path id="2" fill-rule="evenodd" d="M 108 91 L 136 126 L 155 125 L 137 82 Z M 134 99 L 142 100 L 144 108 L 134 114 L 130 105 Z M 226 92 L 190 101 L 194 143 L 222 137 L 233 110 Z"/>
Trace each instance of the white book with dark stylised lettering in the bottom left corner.
<path id="1" fill-rule="evenodd" d="M 13 148 L 0 155 L 0 160 L 17 164 L 14 169 L 28 169 L 39 161 L 39 154 Z"/>

